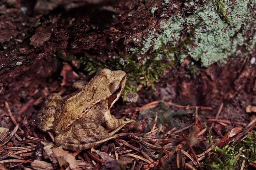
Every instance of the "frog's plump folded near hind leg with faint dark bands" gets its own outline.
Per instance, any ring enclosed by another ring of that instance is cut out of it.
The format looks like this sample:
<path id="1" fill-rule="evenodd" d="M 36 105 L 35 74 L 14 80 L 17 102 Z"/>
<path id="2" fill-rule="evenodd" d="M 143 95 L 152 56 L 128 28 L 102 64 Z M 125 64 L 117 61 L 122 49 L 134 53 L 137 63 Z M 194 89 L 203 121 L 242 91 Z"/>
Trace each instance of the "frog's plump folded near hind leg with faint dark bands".
<path id="1" fill-rule="evenodd" d="M 55 143 L 68 150 L 84 150 L 107 141 L 107 137 L 108 133 L 101 125 L 83 123 L 71 126 L 70 130 L 57 135 Z"/>

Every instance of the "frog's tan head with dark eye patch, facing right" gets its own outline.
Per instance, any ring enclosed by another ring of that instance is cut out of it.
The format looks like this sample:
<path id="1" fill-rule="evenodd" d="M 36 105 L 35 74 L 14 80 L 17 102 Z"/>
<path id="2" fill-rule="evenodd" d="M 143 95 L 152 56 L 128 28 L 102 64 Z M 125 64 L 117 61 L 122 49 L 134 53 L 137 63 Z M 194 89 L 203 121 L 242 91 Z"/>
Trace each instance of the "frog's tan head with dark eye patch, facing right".
<path id="1" fill-rule="evenodd" d="M 111 71 L 110 69 L 104 68 L 101 69 L 97 75 L 105 77 L 106 84 L 109 88 L 108 103 L 109 108 L 119 99 L 121 96 L 125 83 L 126 83 L 126 73 L 122 70 Z"/>

